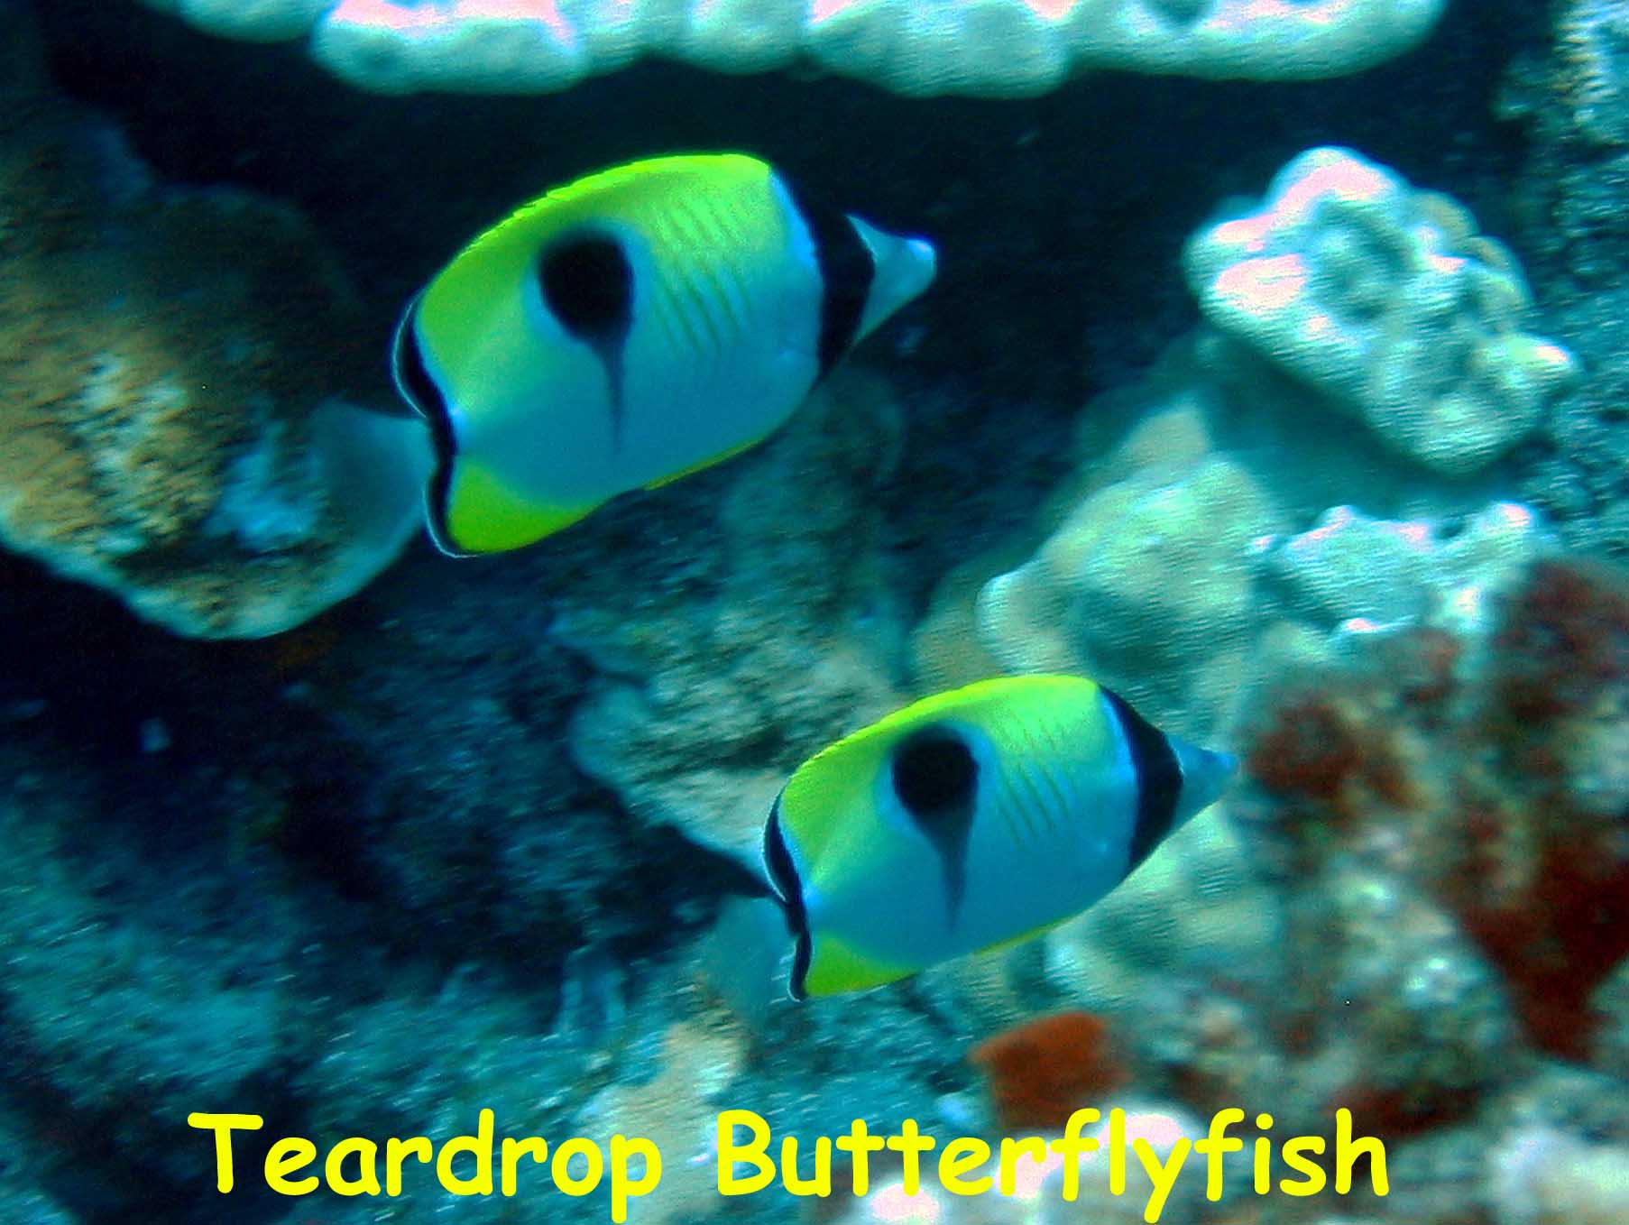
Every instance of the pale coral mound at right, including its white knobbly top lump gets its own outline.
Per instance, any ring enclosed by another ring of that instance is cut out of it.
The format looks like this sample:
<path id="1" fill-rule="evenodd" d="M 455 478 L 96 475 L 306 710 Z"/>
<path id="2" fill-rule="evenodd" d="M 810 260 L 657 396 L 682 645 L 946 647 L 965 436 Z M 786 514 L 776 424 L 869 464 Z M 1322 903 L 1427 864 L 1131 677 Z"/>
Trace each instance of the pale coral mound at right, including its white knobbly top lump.
<path id="1" fill-rule="evenodd" d="M 1082 414 L 1033 555 L 946 578 L 914 639 L 924 683 L 969 655 L 1083 671 L 1228 738 L 1295 656 L 1476 621 L 1552 547 L 1495 497 L 1497 459 L 1575 373 L 1517 331 L 1513 257 L 1344 150 L 1302 153 L 1233 212 L 1186 248 L 1205 323 Z"/>

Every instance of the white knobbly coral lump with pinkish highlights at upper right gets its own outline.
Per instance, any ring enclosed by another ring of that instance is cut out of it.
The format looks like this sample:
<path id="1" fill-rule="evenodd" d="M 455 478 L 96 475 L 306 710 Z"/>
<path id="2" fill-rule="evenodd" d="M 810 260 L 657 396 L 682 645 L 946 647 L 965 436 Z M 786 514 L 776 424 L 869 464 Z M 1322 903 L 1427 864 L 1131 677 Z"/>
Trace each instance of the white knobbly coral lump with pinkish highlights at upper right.
<path id="1" fill-rule="evenodd" d="M 1292 160 L 1184 262 L 1214 326 L 1440 472 L 1497 459 L 1577 370 L 1521 329 L 1531 296 L 1500 243 L 1350 150 Z"/>

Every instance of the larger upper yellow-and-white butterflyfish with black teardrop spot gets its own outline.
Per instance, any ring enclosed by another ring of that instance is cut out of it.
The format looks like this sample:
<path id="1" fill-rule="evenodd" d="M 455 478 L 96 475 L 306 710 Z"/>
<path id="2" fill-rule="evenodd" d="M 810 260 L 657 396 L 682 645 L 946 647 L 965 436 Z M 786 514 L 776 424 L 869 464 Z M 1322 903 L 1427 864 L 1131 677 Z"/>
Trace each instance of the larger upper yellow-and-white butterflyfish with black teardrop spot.
<path id="1" fill-rule="evenodd" d="M 933 248 L 808 204 L 738 153 L 557 187 L 407 305 L 393 370 L 428 420 L 430 534 L 531 544 L 769 437 L 933 279 Z"/>

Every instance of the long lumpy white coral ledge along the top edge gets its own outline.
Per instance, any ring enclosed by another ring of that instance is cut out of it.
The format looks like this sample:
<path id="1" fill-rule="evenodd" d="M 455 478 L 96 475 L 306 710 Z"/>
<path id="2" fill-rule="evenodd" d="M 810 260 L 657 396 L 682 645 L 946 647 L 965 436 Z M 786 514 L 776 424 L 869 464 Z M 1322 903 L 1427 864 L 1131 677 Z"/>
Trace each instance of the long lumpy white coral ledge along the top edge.
<path id="1" fill-rule="evenodd" d="M 311 31 L 380 91 L 541 93 L 642 55 L 806 62 L 904 94 L 1033 94 L 1082 68 L 1333 77 L 1419 42 L 1443 0 L 147 0 L 235 37 Z"/>

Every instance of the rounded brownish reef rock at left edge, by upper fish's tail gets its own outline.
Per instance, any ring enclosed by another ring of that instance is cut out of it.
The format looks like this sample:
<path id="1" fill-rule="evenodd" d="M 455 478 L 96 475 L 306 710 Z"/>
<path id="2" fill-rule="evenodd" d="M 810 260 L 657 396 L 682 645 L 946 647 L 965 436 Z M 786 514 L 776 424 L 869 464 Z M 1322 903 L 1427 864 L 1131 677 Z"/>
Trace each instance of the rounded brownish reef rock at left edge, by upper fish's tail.
<path id="1" fill-rule="evenodd" d="M 8 59 L 31 39 L 0 8 Z M 275 634 L 412 534 L 417 422 L 340 399 L 370 358 L 311 230 L 151 184 L 10 77 L 0 108 L 0 541 L 181 634 Z"/>

